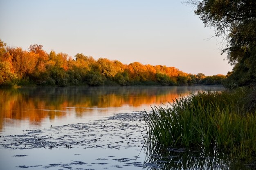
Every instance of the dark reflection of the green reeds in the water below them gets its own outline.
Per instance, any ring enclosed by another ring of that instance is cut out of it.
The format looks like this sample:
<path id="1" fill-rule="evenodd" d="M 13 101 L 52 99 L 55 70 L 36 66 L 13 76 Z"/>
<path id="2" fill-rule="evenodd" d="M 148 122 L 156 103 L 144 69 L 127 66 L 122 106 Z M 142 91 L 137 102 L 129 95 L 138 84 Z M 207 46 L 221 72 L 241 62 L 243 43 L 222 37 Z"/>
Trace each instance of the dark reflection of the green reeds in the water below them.
<path id="1" fill-rule="evenodd" d="M 145 165 L 148 170 L 245 170 L 230 155 L 200 149 L 147 148 Z"/>

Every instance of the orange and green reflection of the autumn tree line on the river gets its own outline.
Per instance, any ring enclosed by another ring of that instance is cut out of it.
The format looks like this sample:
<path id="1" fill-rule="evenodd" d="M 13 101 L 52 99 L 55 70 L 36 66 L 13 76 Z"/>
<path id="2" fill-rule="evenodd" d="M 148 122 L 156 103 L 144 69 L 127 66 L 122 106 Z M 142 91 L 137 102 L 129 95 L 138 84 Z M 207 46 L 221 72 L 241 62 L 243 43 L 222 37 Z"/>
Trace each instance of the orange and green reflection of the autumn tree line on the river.
<path id="1" fill-rule="evenodd" d="M 0 131 L 4 121 L 27 120 L 40 123 L 43 119 L 61 119 L 68 114 L 76 117 L 104 113 L 109 108 L 150 109 L 150 105 L 167 104 L 190 92 L 222 90 L 218 86 L 173 87 L 23 87 L 0 89 Z M 116 111 L 116 110 L 115 110 Z M 132 111 L 132 110 L 130 110 Z"/>

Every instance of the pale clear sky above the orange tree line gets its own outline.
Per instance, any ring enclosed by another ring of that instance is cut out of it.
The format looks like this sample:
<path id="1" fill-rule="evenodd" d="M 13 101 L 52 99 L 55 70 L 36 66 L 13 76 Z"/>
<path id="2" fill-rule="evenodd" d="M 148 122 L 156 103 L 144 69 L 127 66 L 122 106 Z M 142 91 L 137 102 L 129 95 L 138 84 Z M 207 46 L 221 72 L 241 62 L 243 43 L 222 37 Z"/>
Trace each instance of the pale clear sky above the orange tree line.
<path id="1" fill-rule="evenodd" d="M 0 0 L 0 39 L 23 50 L 227 74 L 225 44 L 213 35 L 180 0 Z"/>

